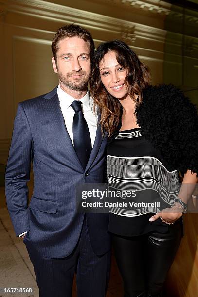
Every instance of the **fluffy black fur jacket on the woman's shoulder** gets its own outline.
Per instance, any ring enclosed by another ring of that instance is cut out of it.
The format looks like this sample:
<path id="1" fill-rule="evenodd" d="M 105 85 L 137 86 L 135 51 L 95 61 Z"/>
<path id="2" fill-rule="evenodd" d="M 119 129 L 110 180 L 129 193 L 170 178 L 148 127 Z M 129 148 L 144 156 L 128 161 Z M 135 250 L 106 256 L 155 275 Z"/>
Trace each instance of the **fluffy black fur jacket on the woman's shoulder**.
<path id="1" fill-rule="evenodd" d="M 198 176 L 198 115 L 181 90 L 171 84 L 149 86 L 136 108 L 136 118 L 144 137 L 170 165 L 182 175 L 189 169 Z M 112 139 L 120 128 L 121 118 Z"/>

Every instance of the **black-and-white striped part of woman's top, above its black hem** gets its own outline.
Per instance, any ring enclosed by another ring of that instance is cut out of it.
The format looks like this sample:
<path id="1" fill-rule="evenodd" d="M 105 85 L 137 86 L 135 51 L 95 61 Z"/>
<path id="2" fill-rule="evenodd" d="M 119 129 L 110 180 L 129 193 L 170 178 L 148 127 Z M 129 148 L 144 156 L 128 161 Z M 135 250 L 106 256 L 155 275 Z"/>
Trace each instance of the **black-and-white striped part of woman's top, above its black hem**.
<path id="1" fill-rule="evenodd" d="M 136 201 L 151 203 L 154 199 L 160 201 L 163 208 L 170 207 L 179 193 L 178 171 L 168 170 L 163 163 L 162 156 L 144 139 L 140 128 L 119 132 L 108 149 L 108 185 L 115 190 L 135 190 Z M 109 211 L 122 216 L 160 211 L 156 205 L 144 205 L 139 208 L 110 207 Z"/>

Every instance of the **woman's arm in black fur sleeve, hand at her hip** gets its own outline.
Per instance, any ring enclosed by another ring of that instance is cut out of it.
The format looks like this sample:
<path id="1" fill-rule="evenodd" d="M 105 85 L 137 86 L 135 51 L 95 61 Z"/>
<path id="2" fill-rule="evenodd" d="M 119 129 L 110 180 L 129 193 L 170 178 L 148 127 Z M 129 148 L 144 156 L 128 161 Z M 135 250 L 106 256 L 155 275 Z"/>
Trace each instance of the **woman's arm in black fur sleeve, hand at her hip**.
<path id="1" fill-rule="evenodd" d="M 184 178 L 178 195 L 180 203 L 175 202 L 171 208 L 162 210 L 150 220 L 161 217 L 163 221 L 171 224 L 182 215 L 183 206 L 186 208 L 185 204 L 191 198 L 198 181 L 198 115 L 196 106 L 177 87 L 163 86 L 163 90 L 169 119 L 167 125 L 170 125 L 171 129 L 169 142 L 172 145 L 167 149 L 167 156 Z M 185 203 L 183 206 L 182 201 Z"/>

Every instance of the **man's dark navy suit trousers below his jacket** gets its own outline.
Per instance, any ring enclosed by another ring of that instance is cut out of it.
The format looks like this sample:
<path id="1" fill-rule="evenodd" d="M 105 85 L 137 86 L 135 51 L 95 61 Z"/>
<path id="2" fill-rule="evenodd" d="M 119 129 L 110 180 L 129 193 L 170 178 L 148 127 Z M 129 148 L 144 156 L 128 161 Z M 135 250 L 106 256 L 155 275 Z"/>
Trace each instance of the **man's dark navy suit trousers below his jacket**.
<path id="1" fill-rule="evenodd" d="M 71 297 L 74 273 L 78 297 L 105 297 L 109 272 L 110 252 L 98 257 L 90 245 L 86 218 L 78 243 L 72 254 L 60 259 L 41 257 L 26 244 L 34 266 L 40 297 Z"/>

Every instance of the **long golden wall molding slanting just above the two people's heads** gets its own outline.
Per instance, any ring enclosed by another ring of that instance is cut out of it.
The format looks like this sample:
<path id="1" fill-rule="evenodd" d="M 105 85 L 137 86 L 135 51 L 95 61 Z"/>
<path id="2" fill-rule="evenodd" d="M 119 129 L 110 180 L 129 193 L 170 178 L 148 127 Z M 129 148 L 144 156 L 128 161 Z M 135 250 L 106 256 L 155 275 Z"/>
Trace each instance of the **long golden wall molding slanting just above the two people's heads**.
<path id="1" fill-rule="evenodd" d="M 48 18 L 64 23 L 75 22 L 86 28 L 120 34 L 121 38 L 132 44 L 138 36 L 149 33 L 152 40 L 164 42 L 166 31 L 155 27 L 83 11 L 60 4 L 41 0 L 0 0 L 1 9 L 7 12 Z M 78 20 L 76 22 L 76 19 Z M 132 30 L 132 32 L 131 32 Z M 122 35 L 121 35 L 122 34 Z"/>

